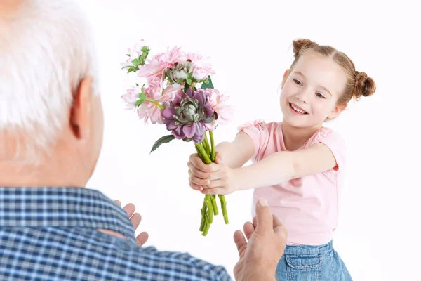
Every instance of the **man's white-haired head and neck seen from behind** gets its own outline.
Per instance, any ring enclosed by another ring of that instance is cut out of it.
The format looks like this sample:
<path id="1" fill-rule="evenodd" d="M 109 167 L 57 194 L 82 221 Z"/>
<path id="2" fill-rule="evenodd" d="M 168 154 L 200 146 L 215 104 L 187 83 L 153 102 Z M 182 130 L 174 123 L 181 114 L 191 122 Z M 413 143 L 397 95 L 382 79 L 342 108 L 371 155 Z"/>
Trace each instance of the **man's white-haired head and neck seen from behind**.
<path id="1" fill-rule="evenodd" d="M 84 186 L 103 126 L 91 28 L 69 0 L 0 11 L 0 186 Z"/>

